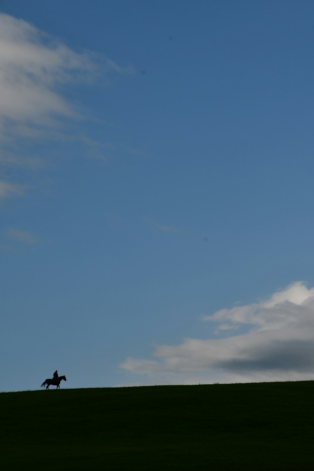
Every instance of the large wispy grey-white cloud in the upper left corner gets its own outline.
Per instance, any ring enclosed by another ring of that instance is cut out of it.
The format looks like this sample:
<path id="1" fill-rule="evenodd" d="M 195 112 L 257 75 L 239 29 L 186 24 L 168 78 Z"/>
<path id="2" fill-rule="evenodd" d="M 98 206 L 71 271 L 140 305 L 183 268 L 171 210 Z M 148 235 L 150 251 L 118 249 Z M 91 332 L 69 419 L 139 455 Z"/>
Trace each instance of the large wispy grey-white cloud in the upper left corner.
<path id="1" fill-rule="evenodd" d="M 75 52 L 22 19 L 0 14 L 0 119 L 8 125 L 42 129 L 56 115 L 78 117 L 58 89 L 60 84 L 93 81 L 98 74 L 134 72 L 94 53 Z M 22 128 L 19 128 L 22 132 Z"/>

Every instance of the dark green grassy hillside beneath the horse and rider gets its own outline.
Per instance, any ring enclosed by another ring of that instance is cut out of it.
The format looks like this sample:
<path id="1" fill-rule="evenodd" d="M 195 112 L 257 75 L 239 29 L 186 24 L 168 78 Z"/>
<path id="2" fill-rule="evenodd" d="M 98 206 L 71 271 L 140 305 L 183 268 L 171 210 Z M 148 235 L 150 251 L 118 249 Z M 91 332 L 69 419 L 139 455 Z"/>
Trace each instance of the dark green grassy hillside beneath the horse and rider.
<path id="1" fill-rule="evenodd" d="M 314 382 L 0 394 L 2 470 L 313 470 Z"/>

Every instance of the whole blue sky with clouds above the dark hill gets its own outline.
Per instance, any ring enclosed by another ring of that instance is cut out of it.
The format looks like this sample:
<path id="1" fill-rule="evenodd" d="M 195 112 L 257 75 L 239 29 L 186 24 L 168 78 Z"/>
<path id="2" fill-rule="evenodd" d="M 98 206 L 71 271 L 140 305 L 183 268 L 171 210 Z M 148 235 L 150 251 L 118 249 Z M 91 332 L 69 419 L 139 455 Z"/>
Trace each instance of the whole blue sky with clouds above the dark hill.
<path id="1" fill-rule="evenodd" d="M 314 3 L 0 0 L 0 391 L 314 379 Z"/>

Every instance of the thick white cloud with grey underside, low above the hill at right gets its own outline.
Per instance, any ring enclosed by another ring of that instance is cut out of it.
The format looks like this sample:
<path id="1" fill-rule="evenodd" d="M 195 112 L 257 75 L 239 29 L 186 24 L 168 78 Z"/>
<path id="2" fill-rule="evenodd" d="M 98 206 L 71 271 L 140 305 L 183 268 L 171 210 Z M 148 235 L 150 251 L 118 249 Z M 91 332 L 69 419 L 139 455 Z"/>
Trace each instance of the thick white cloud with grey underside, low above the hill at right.
<path id="1" fill-rule="evenodd" d="M 154 360 L 127 358 L 120 367 L 148 381 L 236 382 L 310 379 L 314 376 L 314 288 L 290 284 L 268 300 L 222 309 L 205 321 L 217 332 L 247 326 L 248 332 L 207 340 L 186 338 L 157 345 Z M 233 332 L 234 333 L 234 332 Z M 159 380 L 158 380 L 159 378 Z M 200 379 L 202 380 L 200 381 Z"/>

